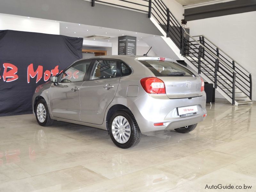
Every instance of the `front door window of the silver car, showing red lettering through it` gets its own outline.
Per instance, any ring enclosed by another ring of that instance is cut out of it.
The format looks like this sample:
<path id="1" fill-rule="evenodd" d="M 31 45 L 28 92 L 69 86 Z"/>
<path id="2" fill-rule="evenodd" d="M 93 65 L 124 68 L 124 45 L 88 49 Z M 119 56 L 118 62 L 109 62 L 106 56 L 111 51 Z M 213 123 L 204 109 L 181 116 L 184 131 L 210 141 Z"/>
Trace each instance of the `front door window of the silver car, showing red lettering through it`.
<path id="1" fill-rule="evenodd" d="M 77 63 L 65 70 L 60 78 L 61 83 L 83 81 L 84 75 L 89 68 L 91 61 Z"/>

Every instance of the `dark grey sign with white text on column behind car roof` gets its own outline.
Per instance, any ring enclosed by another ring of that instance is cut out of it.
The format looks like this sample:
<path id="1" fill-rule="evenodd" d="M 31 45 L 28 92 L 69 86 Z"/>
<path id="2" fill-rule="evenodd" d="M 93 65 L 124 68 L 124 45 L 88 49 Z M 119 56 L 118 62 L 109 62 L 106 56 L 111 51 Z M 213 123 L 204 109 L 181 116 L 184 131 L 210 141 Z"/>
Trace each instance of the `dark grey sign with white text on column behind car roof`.
<path id="1" fill-rule="evenodd" d="M 136 55 L 136 37 L 118 37 L 118 55 Z"/>

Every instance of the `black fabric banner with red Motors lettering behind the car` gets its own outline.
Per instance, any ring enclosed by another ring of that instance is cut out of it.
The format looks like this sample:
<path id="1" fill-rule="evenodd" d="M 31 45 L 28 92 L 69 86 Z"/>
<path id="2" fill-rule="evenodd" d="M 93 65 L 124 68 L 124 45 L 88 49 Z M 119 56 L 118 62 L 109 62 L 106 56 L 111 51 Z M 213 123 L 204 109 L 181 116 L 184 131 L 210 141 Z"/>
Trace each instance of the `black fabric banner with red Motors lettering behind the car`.
<path id="1" fill-rule="evenodd" d="M 32 113 L 36 86 L 82 58 L 83 38 L 0 30 L 0 116 Z"/>

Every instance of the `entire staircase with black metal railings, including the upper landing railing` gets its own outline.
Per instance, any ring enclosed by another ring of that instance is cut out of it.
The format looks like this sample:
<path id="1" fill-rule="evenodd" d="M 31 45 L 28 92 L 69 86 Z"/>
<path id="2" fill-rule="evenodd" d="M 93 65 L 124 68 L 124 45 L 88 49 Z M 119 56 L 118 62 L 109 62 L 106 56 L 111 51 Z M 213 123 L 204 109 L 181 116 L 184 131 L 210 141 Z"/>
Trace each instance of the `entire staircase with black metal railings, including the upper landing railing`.
<path id="1" fill-rule="evenodd" d="M 99 2 L 148 13 L 172 51 L 232 105 L 252 104 L 251 73 L 204 35 L 189 35 L 163 0 L 108 1 L 91 0 L 92 6 Z"/>

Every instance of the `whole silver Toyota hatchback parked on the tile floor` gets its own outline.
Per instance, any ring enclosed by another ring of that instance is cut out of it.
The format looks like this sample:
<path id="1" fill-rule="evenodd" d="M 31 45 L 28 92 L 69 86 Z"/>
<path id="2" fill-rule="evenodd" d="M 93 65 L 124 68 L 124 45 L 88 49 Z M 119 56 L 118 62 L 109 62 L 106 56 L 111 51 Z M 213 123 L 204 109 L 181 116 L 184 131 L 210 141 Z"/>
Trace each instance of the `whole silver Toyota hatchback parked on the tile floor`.
<path id="1" fill-rule="evenodd" d="M 186 133 L 206 116 L 202 78 L 176 60 L 149 56 L 98 56 L 74 62 L 36 87 L 38 124 L 54 120 L 108 130 L 120 148 L 141 133 Z"/>

